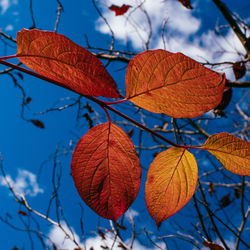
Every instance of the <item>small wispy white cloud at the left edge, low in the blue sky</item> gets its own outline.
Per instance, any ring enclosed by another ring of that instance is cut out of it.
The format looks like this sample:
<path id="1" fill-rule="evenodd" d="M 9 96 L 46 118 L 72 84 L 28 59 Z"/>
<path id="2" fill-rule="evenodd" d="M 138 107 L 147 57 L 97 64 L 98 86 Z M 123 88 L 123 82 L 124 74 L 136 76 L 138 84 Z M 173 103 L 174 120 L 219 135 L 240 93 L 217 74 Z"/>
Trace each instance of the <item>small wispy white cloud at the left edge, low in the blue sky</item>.
<path id="1" fill-rule="evenodd" d="M 19 194 L 36 196 L 39 193 L 43 193 L 43 189 L 41 189 L 37 183 L 36 175 L 27 170 L 19 169 L 15 180 L 13 180 L 10 175 L 6 175 L 6 179 L 0 176 L 0 186 L 8 187 L 7 182 Z"/>

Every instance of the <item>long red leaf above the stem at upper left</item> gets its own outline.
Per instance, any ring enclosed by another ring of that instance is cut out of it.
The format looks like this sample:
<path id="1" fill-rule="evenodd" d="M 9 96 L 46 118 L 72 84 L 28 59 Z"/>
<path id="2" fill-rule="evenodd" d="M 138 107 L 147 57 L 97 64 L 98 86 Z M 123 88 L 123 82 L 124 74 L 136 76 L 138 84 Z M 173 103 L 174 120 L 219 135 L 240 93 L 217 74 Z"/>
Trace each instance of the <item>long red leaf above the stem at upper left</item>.
<path id="1" fill-rule="evenodd" d="M 120 97 L 102 62 L 63 35 L 23 29 L 17 33 L 17 47 L 23 64 L 79 94 Z"/>

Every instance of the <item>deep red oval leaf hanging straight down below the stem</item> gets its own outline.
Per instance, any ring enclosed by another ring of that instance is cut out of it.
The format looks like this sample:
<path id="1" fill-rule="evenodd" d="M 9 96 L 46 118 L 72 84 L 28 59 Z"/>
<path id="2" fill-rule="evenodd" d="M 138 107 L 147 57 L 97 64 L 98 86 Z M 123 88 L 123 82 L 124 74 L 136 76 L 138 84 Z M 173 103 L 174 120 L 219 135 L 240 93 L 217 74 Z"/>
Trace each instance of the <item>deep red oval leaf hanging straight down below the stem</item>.
<path id="1" fill-rule="evenodd" d="M 110 122 L 90 129 L 80 139 L 71 170 L 81 198 L 107 219 L 117 220 L 139 191 L 141 167 L 133 143 Z"/>

